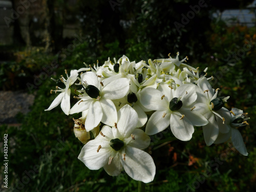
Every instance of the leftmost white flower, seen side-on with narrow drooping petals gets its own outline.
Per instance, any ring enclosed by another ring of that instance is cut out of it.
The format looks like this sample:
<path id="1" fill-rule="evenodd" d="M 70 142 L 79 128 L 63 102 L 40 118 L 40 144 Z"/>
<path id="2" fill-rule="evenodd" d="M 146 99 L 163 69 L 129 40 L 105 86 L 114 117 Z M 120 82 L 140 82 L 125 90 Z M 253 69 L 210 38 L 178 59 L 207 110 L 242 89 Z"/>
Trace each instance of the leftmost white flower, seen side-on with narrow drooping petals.
<path id="1" fill-rule="evenodd" d="M 45 111 L 50 111 L 53 108 L 55 108 L 59 103 L 62 111 L 66 114 L 69 115 L 69 110 L 70 110 L 70 86 L 74 84 L 78 76 L 78 71 L 77 70 L 71 70 L 70 72 L 70 77 L 67 74 L 68 79 L 66 80 L 63 76 L 61 77 L 61 81 L 65 84 L 66 88 L 61 89 L 58 88 L 59 90 L 56 90 L 56 92 L 61 92 L 52 102 L 52 104 L 49 106 L 49 108 Z M 52 90 L 51 90 L 52 92 Z"/>

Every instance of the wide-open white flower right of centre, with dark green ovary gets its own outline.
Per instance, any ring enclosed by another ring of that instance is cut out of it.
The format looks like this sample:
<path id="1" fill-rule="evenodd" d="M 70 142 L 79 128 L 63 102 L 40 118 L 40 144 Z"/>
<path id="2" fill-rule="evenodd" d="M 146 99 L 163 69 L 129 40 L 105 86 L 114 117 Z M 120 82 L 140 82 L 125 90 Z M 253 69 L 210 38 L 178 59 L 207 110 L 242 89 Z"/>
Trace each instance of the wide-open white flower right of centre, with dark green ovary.
<path id="1" fill-rule="evenodd" d="M 195 86 L 183 84 L 176 90 L 161 83 L 158 90 L 145 88 L 140 94 L 141 104 L 155 110 L 147 122 L 145 133 L 153 135 L 165 130 L 169 125 L 175 137 L 182 141 L 190 140 L 194 126 L 202 126 L 208 121 L 197 111 Z"/>

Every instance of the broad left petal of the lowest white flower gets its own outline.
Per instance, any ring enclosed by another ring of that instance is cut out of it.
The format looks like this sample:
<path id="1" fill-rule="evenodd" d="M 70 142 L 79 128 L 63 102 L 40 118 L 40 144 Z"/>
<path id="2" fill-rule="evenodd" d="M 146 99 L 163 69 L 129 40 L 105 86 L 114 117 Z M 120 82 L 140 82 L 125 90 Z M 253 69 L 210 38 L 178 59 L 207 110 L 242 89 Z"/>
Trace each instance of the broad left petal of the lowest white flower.
<path id="1" fill-rule="evenodd" d="M 97 152 L 99 145 L 101 145 L 101 148 Z M 78 159 L 81 160 L 89 169 L 97 170 L 108 163 L 110 154 L 111 146 L 109 145 L 109 142 L 94 139 L 82 147 Z"/>

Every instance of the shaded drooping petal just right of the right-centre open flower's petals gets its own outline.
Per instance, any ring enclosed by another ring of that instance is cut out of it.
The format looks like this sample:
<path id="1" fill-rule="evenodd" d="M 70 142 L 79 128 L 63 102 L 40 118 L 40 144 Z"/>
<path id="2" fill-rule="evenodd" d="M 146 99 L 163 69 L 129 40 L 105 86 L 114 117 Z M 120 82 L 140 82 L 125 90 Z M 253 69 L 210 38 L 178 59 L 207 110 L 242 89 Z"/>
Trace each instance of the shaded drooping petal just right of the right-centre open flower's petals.
<path id="1" fill-rule="evenodd" d="M 212 143 L 215 142 L 219 135 L 219 127 L 215 120 L 215 115 L 212 114 L 207 119 L 209 123 L 203 126 L 203 133 L 204 133 L 204 141 L 207 146 L 210 146 Z"/>

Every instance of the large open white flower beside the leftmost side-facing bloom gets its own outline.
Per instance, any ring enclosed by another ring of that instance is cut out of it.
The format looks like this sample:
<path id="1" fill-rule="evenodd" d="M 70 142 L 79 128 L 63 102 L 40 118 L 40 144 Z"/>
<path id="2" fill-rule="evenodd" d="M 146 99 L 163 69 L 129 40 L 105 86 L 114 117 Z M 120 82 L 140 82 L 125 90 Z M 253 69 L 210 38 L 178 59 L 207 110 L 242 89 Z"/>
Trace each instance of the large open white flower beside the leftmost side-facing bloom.
<path id="1" fill-rule="evenodd" d="M 114 126 L 117 121 L 117 111 L 112 99 L 119 99 L 127 95 L 129 82 L 127 78 L 119 78 L 108 84 L 99 82 L 98 76 L 93 72 L 83 73 L 81 82 L 88 96 L 80 97 L 71 109 L 70 114 L 87 112 L 84 126 L 89 132 L 96 127 L 100 121 L 106 125 Z"/>

